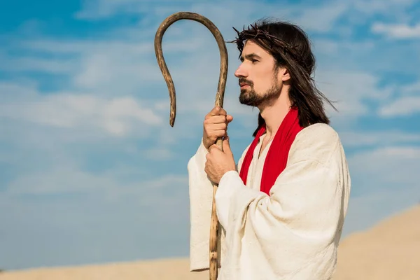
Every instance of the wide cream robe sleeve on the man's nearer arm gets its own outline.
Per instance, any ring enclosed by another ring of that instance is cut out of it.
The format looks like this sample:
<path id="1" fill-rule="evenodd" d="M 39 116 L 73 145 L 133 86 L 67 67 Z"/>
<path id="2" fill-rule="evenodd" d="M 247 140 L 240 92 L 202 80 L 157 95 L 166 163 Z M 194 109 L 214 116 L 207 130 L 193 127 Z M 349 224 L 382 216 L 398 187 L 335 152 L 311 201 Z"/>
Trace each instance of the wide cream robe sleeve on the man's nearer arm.
<path id="1" fill-rule="evenodd" d="M 332 248 L 348 195 L 349 174 L 339 138 L 332 128 L 317 127 L 297 135 L 270 195 L 247 188 L 238 172 L 231 171 L 219 183 L 216 207 L 230 251 L 241 252 L 245 244 L 248 254 L 261 256 L 260 265 L 272 264 L 277 275 L 285 275 Z"/>

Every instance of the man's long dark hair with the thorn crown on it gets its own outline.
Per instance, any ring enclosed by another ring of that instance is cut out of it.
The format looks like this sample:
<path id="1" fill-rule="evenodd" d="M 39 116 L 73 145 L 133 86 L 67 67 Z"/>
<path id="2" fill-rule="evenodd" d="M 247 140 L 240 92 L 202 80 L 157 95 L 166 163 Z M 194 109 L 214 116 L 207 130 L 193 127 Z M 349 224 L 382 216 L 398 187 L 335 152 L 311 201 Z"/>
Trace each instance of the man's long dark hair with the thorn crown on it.
<path id="1" fill-rule="evenodd" d="M 289 98 L 292 106 L 297 106 L 299 111 L 300 126 L 307 127 L 314 123 L 330 124 L 330 119 L 325 114 L 323 100 L 332 108 L 335 107 L 314 83 L 311 75 L 315 69 L 315 56 L 311 51 L 307 34 L 300 27 L 289 22 L 259 20 L 247 29 L 237 31 L 237 34 L 236 40 L 230 43 L 237 43 L 239 57 L 244 50 L 244 42 L 252 40 L 274 57 L 276 67 L 288 69 L 291 81 Z M 254 137 L 260 126 L 264 124 L 264 119 L 258 114 L 258 128 L 253 133 Z"/>

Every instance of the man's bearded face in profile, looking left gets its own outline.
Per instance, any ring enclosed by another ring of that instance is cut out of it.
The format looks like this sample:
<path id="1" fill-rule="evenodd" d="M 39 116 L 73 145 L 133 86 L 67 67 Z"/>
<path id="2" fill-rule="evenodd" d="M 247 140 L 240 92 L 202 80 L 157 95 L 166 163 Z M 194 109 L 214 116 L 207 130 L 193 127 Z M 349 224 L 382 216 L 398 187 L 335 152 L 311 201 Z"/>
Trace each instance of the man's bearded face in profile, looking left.
<path id="1" fill-rule="evenodd" d="M 259 106 L 279 97 L 282 87 L 280 69 L 275 67 L 274 57 L 269 52 L 253 41 L 246 41 L 241 62 L 235 71 L 241 87 L 241 104 Z"/>

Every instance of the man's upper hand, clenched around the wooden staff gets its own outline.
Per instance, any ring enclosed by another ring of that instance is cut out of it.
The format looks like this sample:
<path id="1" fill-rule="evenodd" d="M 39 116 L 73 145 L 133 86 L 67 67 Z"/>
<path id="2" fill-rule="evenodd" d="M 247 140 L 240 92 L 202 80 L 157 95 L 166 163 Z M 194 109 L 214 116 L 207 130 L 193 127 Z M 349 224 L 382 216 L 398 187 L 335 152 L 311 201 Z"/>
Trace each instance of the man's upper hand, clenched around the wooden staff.
<path id="1" fill-rule="evenodd" d="M 203 124 L 203 144 L 209 150 L 209 147 L 216 143 L 218 137 L 228 136 L 228 124 L 233 117 L 228 115 L 225 109 L 214 107 L 204 118 Z"/>

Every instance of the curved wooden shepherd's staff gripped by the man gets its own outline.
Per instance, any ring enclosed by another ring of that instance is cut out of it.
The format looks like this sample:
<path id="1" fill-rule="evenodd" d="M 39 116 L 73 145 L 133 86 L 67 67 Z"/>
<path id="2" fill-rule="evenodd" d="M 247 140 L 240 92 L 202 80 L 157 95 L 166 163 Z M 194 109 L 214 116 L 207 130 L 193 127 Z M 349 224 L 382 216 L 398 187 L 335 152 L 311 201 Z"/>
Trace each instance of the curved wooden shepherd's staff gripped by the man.
<path id="1" fill-rule="evenodd" d="M 223 40 L 223 36 L 221 31 L 218 30 L 216 25 L 211 22 L 209 19 L 205 18 L 204 16 L 197 14 L 197 13 L 190 13 L 190 12 L 179 12 L 174 13 L 173 15 L 169 15 L 166 18 L 158 31 L 156 31 L 155 35 L 155 53 L 156 58 L 158 59 L 158 64 L 160 70 L 162 71 L 163 77 L 166 80 L 167 87 L 169 90 L 169 99 L 171 101 L 171 111 L 169 116 L 169 124 L 174 127 L 175 116 L 176 116 L 176 94 L 175 94 L 175 87 L 174 82 L 172 80 L 171 74 L 167 68 L 165 59 L 162 53 L 162 37 L 167 28 L 172 25 L 174 22 L 178 20 L 195 20 L 196 22 L 202 23 L 205 27 L 207 27 L 211 33 L 213 34 L 214 38 L 216 38 L 216 42 L 218 43 L 218 48 L 221 55 L 221 69 L 220 69 L 220 76 L 218 80 L 218 89 L 216 92 L 216 102 L 215 106 L 220 106 L 223 108 L 223 97 L 225 94 L 225 86 L 226 86 L 226 79 L 228 77 L 228 50 L 226 50 L 225 41 Z M 218 147 L 222 150 L 222 143 L 223 140 L 219 137 L 216 141 Z M 210 225 L 210 246 L 209 246 L 209 274 L 210 280 L 216 280 L 218 276 L 218 230 L 219 230 L 219 222 L 216 214 L 216 203 L 214 201 L 214 195 L 216 194 L 217 184 L 213 183 L 213 205 L 211 209 L 211 225 Z"/>

